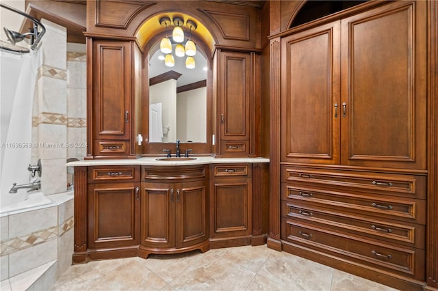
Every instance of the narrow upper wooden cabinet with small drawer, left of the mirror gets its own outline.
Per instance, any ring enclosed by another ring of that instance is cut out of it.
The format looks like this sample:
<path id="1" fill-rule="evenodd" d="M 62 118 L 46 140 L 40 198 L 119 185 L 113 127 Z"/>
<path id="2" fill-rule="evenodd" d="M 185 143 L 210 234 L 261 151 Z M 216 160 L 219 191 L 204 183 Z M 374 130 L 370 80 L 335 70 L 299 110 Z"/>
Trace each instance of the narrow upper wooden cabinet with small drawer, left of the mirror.
<path id="1" fill-rule="evenodd" d="M 127 157 L 132 154 L 132 77 L 134 42 L 88 38 L 88 156 Z M 92 68 L 92 69 L 90 69 Z"/>

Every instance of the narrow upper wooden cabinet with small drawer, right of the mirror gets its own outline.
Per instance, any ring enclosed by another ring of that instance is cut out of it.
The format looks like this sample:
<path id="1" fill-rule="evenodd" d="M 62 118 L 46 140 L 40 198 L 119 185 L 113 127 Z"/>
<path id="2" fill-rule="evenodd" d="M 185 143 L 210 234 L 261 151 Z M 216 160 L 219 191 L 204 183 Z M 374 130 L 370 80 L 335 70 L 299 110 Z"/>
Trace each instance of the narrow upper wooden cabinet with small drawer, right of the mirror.
<path id="1" fill-rule="evenodd" d="M 220 53 L 220 153 L 250 150 L 250 54 Z"/>

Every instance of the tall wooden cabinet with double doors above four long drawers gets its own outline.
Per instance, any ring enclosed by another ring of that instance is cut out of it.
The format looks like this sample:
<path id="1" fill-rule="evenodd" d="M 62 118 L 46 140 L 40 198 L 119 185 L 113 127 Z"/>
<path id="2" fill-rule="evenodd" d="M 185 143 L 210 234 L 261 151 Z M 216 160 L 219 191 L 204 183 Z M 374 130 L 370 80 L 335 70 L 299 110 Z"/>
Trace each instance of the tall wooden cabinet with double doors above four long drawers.
<path id="1" fill-rule="evenodd" d="M 283 250 L 402 289 L 425 276 L 424 15 L 397 1 L 281 38 Z"/>

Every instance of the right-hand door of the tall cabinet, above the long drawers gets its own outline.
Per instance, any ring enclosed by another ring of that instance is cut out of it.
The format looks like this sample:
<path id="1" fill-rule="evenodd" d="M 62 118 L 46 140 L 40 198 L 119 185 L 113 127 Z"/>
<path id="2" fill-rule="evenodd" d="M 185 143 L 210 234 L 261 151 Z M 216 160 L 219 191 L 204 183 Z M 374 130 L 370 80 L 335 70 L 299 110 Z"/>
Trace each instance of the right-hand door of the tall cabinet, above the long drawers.
<path id="1" fill-rule="evenodd" d="M 343 165 L 426 169 L 425 7 L 396 1 L 342 20 Z"/>

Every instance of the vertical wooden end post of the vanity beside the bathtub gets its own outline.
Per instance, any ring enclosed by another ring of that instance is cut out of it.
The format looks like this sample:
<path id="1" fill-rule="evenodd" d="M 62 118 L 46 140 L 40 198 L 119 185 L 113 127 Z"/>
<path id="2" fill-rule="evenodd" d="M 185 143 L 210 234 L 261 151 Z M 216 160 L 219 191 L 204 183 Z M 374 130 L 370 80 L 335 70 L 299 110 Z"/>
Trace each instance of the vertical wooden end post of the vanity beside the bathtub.
<path id="1" fill-rule="evenodd" d="M 73 264 L 87 262 L 87 167 L 75 167 L 75 238 Z"/>

